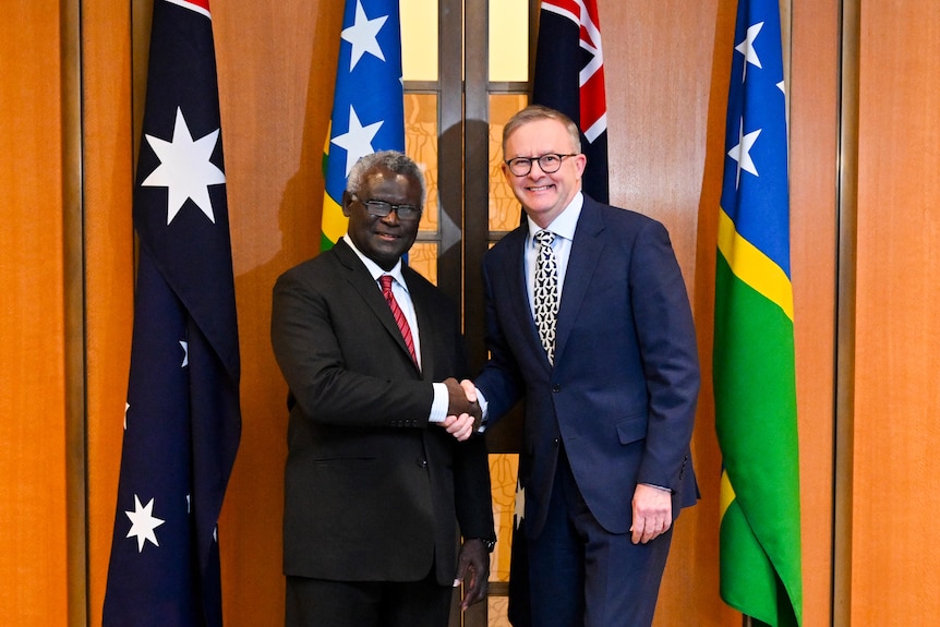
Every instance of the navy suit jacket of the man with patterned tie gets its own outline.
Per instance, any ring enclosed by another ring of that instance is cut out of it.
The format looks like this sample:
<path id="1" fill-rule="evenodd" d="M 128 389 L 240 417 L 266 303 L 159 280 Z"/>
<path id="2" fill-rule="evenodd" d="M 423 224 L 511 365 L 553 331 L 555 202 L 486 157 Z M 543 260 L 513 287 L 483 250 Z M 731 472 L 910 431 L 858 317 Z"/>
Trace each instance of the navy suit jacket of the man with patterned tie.
<path id="1" fill-rule="evenodd" d="M 483 262 L 491 361 L 475 384 L 498 419 L 526 398 L 520 482 L 528 533 L 544 524 L 559 443 L 585 501 L 613 533 L 630 528 L 637 483 L 698 487 L 689 442 L 699 389 L 695 328 L 665 228 L 585 196 L 549 364 L 526 290 L 522 226 Z"/>

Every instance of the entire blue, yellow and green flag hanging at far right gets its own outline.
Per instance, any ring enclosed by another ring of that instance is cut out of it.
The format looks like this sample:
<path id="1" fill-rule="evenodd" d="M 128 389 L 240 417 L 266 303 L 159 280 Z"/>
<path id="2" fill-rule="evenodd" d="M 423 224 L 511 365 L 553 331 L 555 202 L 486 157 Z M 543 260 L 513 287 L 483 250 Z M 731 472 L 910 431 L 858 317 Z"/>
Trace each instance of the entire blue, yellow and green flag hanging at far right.
<path id="1" fill-rule="evenodd" d="M 740 0 L 728 91 L 714 311 L 721 595 L 802 624 L 799 454 L 786 95 L 776 0 Z"/>

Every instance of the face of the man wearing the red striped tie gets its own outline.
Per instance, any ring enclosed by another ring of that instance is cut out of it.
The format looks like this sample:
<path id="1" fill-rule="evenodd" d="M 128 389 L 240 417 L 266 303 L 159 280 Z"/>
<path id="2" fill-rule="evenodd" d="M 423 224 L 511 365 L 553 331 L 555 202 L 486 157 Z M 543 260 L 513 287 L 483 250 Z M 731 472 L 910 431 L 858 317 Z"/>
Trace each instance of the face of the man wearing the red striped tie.
<path id="1" fill-rule="evenodd" d="M 418 219 L 400 220 L 398 212 L 383 218 L 370 216 L 363 203 L 385 201 L 393 205 L 421 206 L 421 183 L 377 165 L 362 178 L 362 186 L 342 195 L 342 215 L 349 218 L 349 238 L 355 248 L 383 269 L 390 270 L 418 237 Z"/>

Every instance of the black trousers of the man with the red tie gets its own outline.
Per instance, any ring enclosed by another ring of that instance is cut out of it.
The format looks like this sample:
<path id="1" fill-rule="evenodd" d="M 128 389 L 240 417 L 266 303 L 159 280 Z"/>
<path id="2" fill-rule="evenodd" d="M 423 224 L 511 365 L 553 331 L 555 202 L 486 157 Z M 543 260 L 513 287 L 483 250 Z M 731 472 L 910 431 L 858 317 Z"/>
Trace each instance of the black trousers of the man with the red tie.
<path id="1" fill-rule="evenodd" d="M 286 627 L 447 627 L 454 589 L 421 581 L 287 577 Z"/>

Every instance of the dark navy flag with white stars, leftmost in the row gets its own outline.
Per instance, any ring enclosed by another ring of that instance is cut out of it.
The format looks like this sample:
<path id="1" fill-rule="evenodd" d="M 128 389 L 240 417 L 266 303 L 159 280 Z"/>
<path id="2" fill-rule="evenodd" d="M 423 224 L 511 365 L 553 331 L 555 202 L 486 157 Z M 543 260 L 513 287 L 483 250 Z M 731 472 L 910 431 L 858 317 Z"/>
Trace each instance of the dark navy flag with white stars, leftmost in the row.
<path id="1" fill-rule="evenodd" d="M 155 0 L 140 255 L 105 626 L 220 627 L 239 346 L 208 0 Z"/>

